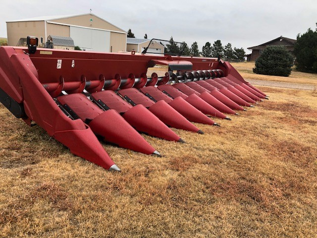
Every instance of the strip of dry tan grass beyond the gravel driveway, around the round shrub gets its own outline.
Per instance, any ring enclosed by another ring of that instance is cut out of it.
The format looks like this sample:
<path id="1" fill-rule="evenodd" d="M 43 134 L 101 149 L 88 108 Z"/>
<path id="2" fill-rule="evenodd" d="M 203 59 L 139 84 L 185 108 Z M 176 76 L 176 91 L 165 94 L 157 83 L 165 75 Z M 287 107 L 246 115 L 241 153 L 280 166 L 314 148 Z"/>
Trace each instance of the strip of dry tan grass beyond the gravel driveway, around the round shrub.
<path id="1" fill-rule="evenodd" d="M 303 73 L 295 69 L 295 66 L 292 67 L 291 75 L 288 77 L 282 76 L 268 76 L 262 74 L 256 74 L 252 71 L 254 68 L 254 62 L 237 62 L 231 63 L 235 67 L 243 78 L 247 79 L 256 79 L 256 80 L 268 80 L 268 81 L 280 81 L 280 82 L 292 82 L 292 83 L 304 83 L 317 85 L 317 74 L 313 73 Z"/>

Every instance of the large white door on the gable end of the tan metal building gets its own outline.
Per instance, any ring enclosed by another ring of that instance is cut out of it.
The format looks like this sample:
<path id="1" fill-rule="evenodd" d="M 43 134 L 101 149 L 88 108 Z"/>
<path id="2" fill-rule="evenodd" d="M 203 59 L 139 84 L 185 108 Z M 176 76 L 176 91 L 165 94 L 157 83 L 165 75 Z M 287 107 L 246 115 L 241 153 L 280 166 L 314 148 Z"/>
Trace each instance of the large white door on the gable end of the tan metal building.
<path id="1" fill-rule="evenodd" d="M 74 45 L 83 49 L 99 52 L 110 52 L 110 32 L 71 26 L 70 37 Z"/>

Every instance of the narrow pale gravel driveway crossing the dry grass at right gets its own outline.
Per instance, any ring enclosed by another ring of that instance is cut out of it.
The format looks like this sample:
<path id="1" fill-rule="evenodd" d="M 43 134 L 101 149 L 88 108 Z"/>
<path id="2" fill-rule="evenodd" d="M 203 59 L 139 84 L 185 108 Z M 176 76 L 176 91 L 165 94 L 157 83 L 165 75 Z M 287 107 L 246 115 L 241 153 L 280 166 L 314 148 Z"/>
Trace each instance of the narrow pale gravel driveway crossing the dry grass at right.
<path id="1" fill-rule="evenodd" d="M 278 81 L 264 81 L 264 80 L 254 80 L 254 79 L 245 79 L 247 82 L 250 82 L 254 85 L 268 86 L 268 87 L 277 87 L 277 88 L 292 88 L 292 89 L 302 89 L 302 90 L 316 90 L 316 86 L 311 84 L 302 84 L 302 83 L 286 83 Z"/>

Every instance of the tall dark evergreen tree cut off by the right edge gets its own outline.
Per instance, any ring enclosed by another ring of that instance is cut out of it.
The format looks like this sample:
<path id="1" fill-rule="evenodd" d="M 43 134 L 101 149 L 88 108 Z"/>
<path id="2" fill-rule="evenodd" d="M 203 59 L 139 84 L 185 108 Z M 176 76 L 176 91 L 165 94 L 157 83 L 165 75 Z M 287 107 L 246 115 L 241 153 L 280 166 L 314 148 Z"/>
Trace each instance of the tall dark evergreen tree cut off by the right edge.
<path id="1" fill-rule="evenodd" d="M 317 73 L 317 29 L 308 29 L 303 35 L 297 35 L 294 55 L 297 70 Z"/>

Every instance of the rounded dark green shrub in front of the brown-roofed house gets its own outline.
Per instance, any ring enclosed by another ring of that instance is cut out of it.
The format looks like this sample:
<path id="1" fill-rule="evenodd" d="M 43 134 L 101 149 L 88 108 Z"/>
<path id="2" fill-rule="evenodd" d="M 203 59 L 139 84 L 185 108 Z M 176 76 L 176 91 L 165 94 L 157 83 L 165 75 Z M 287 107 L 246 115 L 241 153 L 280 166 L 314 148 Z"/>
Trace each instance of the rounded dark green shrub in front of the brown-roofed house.
<path id="1" fill-rule="evenodd" d="M 268 46 L 256 60 L 253 72 L 257 74 L 289 76 L 293 56 L 284 46 Z"/>

